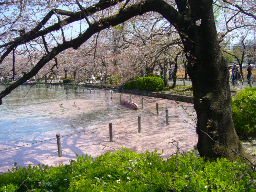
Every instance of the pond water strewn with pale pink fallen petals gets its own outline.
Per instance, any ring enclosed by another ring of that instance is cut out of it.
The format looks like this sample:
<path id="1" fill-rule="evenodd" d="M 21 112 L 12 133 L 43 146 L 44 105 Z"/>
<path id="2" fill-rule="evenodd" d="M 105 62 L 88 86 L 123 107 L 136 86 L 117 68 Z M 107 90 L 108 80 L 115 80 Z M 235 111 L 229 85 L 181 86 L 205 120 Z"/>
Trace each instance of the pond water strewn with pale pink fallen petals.
<path id="1" fill-rule="evenodd" d="M 4 86 L 0 86 L 3 90 Z M 176 150 L 169 142 L 179 141 L 182 150 L 197 142 L 190 117 L 175 101 L 132 95 L 132 101 L 144 109 L 120 106 L 120 93 L 100 89 L 45 85 L 22 85 L 3 99 L 0 105 L 0 172 L 7 172 L 14 162 L 28 164 L 68 164 L 76 154 L 99 156 L 108 150 L 130 148 L 138 153 L 164 150 L 168 157 Z M 130 94 L 123 94 L 130 100 Z M 156 103 L 159 116 L 156 116 Z M 184 104 L 188 112 L 193 105 Z M 166 112 L 169 110 L 169 124 Z M 138 134 L 138 115 L 142 131 Z M 109 123 L 113 142 L 109 142 Z M 56 134 L 61 136 L 62 157 L 58 157 Z M 105 148 L 104 146 L 111 146 Z"/>

